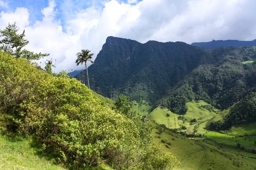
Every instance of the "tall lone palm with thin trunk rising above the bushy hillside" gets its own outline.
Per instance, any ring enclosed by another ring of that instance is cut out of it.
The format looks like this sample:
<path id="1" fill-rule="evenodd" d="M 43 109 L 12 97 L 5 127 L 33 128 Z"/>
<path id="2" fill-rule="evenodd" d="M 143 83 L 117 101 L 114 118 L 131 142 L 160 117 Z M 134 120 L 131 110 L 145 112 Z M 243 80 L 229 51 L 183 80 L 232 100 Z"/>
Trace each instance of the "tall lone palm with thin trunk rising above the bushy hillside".
<path id="1" fill-rule="evenodd" d="M 88 76 L 88 71 L 87 71 L 87 61 L 90 61 L 93 63 L 91 60 L 93 58 L 93 53 L 89 54 L 90 50 L 81 50 L 80 53 L 77 53 L 77 59 L 76 59 L 76 65 L 83 64 L 85 63 L 85 68 L 86 68 L 86 74 L 87 74 L 87 87 L 90 89 L 90 84 L 89 84 L 89 76 Z"/>

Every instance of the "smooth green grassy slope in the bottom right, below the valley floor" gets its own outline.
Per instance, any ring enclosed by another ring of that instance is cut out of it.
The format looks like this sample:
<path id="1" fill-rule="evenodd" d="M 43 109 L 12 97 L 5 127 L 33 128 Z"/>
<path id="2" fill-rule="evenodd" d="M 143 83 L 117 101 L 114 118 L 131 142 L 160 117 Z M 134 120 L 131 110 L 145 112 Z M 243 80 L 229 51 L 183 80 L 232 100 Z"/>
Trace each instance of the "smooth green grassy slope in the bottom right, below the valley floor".
<path id="1" fill-rule="evenodd" d="M 155 127 L 154 124 L 152 125 Z M 175 170 L 254 170 L 256 168 L 256 159 L 243 157 L 246 153 L 241 150 L 238 152 L 230 148 L 215 147 L 210 143 L 195 141 L 172 132 L 168 134 L 163 132 L 160 138 L 157 138 L 159 136 L 157 131 L 155 128 L 152 131 L 153 142 L 158 143 L 161 139 L 167 139 L 171 145 L 170 148 L 166 147 L 166 151 L 173 153 L 180 161 L 180 165 L 175 167 Z M 204 139 L 206 138 L 202 138 Z M 251 155 L 255 156 L 255 154 Z"/>

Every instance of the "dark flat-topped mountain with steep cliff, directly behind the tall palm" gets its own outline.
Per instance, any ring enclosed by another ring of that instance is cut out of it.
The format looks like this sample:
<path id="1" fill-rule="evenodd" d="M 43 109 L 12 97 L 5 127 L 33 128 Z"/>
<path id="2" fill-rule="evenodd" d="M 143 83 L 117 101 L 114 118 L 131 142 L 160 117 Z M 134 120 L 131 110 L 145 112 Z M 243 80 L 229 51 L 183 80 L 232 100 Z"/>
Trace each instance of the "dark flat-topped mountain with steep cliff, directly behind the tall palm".
<path id="1" fill-rule="evenodd" d="M 143 44 L 108 37 L 88 73 L 104 96 L 111 97 L 112 90 L 114 99 L 122 93 L 132 100 L 145 99 L 154 104 L 170 87 L 205 63 L 211 63 L 207 52 L 184 42 Z"/>

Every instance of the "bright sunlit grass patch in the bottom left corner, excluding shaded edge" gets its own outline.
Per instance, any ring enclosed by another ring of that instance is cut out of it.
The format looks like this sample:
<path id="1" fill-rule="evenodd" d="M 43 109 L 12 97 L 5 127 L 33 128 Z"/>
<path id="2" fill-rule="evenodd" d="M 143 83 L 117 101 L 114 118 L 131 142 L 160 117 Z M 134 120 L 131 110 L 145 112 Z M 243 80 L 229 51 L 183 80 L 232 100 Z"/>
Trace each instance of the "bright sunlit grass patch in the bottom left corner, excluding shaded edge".
<path id="1" fill-rule="evenodd" d="M 32 137 L 0 136 L 0 169 L 3 170 L 64 170 L 55 164 L 52 155 L 43 156 L 43 149 Z"/>

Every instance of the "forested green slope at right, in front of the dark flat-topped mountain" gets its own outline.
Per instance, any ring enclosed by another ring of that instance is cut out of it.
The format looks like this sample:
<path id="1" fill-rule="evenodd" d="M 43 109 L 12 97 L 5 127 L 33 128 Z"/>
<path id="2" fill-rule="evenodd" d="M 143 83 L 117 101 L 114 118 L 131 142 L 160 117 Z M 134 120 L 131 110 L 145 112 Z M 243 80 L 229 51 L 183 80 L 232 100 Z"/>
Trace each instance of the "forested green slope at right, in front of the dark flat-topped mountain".
<path id="1" fill-rule="evenodd" d="M 185 113 L 186 102 L 204 100 L 224 110 L 256 89 L 255 47 L 227 47 L 208 51 L 212 65 L 200 65 L 170 88 L 158 105 L 175 113 Z"/>

